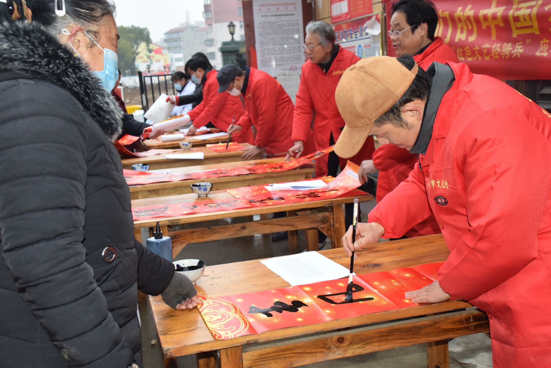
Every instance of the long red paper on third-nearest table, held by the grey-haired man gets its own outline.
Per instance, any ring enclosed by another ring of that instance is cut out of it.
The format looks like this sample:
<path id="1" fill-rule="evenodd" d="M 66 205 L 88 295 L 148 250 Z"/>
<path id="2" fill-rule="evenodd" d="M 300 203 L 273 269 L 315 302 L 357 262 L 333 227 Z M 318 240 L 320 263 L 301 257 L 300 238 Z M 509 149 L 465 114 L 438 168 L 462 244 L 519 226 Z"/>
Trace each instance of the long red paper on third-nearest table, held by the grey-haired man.
<path id="1" fill-rule="evenodd" d="M 126 150 L 125 147 L 122 147 L 122 146 L 121 146 L 121 149 Z M 155 150 L 149 150 L 149 151 L 155 151 Z M 144 184 L 153 184 L 153 183 L 181 182 L 182 180 L 190 180 L 190 179 L 209 179 L 209 178 L 233 177 L 236 175 L 275 173 L 275 172 L 282 172 L 282 171 L 295 169 L 299 166 L 302 166 L 304 164 L 307 164 L 316 160 L 316 158 L 320 158 L 322 156 L 328 155 L 329 152 L 332 152 L 332 151 L 333 151 L 333 147 L 327 147 L 325 150 L 311 153 L 310 155 L 300 157 L 293 161 L 281 162 L 281 163 L 279 162 L 266 163 L 266 164 L 250 165 L 250 166 L 244 166 L 244 167 L 234 167 L 230 169 L 221 168 L 221 169 L 212 169 L 212 170 L 198 171 L 198 172 L 192 172 L 192 173 L 181 173 L 181 174 L 159 174 L 159 173 L 138 172 L 138 171 L 125 169 L 123 170 L 123 174 L 125 175 L 126 183 L 128 185 L 144 185 Z M 131 155 L 137 155 L 137 153 L 132 153 L 130 151 L 128 152 Z M 144 153 L 144 152 L 140 152 L 140 153 Z"/>

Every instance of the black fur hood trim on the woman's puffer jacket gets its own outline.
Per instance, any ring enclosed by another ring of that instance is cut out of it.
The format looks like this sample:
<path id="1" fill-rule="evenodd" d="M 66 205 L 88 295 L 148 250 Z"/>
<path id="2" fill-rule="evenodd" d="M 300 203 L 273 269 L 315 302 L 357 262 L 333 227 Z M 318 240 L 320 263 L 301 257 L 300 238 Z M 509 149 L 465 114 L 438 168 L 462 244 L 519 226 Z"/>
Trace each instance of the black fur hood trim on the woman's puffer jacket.
<path id="1" fill-rule="evenodd" d="M 61 34 L 61 30 L 60 30 Z M 0 23 L 0 70 L 67 90 L 114 141 L 122 133 L 122 110 L 115 98 L 74 51 L 36 22 Z"/>

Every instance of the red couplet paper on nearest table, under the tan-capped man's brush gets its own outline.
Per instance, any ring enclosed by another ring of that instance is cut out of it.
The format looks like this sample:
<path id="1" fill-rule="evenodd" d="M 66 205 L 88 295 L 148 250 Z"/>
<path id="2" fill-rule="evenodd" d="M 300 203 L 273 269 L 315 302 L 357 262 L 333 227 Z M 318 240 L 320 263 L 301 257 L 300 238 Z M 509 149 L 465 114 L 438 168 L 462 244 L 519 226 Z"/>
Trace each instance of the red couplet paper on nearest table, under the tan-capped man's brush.
<path id="1" fill-rule="evenodd" d="M 436 281 L 443 263 L 356 275 L 352 303 L 344 300 L 344 278 L 222 298 L 201 296 L 197 307 L 217 340 L 358 317 L 418 305 L 404 294 Z"/>

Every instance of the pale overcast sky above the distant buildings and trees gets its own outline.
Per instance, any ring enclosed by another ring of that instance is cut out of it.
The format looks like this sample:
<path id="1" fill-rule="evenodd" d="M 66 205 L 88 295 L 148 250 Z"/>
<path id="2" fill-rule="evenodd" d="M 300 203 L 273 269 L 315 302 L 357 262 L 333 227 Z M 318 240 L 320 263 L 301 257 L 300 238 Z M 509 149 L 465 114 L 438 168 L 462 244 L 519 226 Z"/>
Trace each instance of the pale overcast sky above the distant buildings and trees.
<path id="1" fill-rule="evenodd" d="M 186 21 L 203 20 L 201 0 L 113 0 L 117 6 L 117 25 L 147 27 L 153 42 L 163 38 L 164 32 Z"/>

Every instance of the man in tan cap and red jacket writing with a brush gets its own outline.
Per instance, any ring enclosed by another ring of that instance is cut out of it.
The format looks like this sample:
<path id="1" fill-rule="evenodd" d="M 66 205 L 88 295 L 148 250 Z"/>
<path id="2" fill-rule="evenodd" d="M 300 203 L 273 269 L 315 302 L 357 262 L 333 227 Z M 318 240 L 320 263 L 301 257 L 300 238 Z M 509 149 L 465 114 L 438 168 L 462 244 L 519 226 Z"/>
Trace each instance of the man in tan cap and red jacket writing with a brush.
<path id="1" fill-rule="evenodd" d="M 425 72 L 409 55 L 359 61 L 335 98 L 346 124 L 337 155 L 353 156 L 369 135 L 418 155 L 355 239 L 344 235 L 347 254 L 434 213 L 450 255 L 437 281 L 404 296 L 486 311 L 495 368 L 551 367 L 551 114 L 466 64 Z"/>

